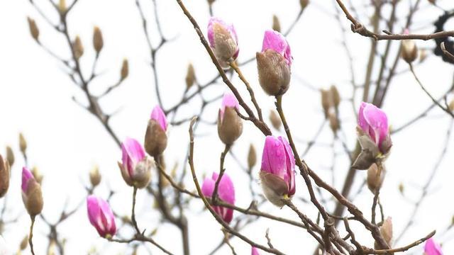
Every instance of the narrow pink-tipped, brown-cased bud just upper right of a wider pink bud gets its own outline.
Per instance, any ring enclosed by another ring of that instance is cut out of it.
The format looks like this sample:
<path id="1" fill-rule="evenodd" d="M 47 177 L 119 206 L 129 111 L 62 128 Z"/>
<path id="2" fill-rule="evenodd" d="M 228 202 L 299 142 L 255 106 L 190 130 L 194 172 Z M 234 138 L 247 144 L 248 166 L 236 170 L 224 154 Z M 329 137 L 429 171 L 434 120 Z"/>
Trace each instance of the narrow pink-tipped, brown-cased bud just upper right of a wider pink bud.
<path id="1" fill-rule="evenodd" d="M 148 121 L 147 132 L 145 132 L 145 151 L 150 156 L 157 157 L 167 147 L 167 119 L 160 106 L 155 106 Z"/>

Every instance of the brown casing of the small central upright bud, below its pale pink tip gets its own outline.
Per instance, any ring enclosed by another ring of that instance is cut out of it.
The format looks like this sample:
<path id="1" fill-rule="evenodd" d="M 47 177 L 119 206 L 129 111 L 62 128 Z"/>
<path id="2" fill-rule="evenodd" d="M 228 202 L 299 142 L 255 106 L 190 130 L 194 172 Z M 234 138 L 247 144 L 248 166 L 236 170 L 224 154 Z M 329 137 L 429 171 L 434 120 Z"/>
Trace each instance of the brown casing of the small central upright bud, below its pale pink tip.
<path id="1" fill-rule="evenodd" d="M 226 107 L 223 119 L 221 111 L 218 112 L 218 135 L 226 145 L 232 145 L 243 132 L 243 122 L 235 111 L 235 108 Z"/>

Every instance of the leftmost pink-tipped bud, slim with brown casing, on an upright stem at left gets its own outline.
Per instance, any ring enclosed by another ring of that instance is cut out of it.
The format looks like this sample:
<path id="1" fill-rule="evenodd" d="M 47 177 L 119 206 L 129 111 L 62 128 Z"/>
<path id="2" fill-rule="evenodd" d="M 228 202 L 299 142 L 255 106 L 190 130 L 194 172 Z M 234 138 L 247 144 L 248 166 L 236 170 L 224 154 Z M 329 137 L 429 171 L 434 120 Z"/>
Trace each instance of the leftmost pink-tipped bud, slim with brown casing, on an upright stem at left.
<path id="1" fill-rule="evenodd" d="M 25 166 L 22 169 L 22 200 L 26 206 L 28 215 L 35 216 L 43 210 L 43 194 L 41 193 L 41 186 L 35 180 L 31 171 Z"/>

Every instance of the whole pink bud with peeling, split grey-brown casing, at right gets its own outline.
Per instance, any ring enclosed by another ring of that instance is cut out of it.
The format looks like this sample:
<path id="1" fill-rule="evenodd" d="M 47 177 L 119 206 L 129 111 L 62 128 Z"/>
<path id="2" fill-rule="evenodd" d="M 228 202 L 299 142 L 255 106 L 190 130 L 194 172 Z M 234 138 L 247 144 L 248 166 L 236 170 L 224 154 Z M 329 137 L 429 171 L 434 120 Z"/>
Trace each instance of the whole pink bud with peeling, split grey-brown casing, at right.
<path id="1" fill-rule="evenodd" d="M 392 147 L 386 113 L 371 103 L 362 102 L 356 130 L 362 151 L 353 163 L 353 168 L 369 169 L 373 163 L 387 157 Z"/>

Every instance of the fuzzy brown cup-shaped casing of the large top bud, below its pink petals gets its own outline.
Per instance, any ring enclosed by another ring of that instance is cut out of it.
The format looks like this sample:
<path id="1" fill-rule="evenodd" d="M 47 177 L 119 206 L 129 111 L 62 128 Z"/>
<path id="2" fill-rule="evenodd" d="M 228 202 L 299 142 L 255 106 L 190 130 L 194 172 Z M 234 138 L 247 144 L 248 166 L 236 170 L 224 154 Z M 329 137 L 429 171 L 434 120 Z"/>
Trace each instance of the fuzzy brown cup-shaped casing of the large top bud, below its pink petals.
<path id="1" fill-rule="evenodd" d="M 282 55 L 274 50 L 257 52 L 258 80 L 270 96 L 280 96 L 289 89 L 290 67 Z"/>

